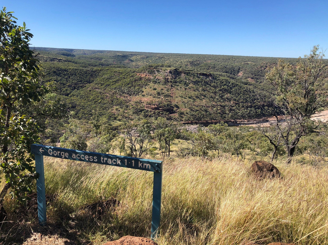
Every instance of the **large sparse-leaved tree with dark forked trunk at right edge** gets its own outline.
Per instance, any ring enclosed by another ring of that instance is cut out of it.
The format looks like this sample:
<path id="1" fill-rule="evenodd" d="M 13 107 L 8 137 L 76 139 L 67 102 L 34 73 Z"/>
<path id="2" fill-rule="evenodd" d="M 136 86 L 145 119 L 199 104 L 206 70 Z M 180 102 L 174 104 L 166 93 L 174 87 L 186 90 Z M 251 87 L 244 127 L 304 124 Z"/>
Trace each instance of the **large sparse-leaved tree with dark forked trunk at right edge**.
<path id="1" fill-rule="evenodd" d="M 271 112 L 276 118 L 272 125 L 275 127 L 275 142 L 283 142 L 289 163 L 301 137 L 316 132 L 318 128 L 311 115 L 328 105 L 328 66 L 318 48 L 314 46 L 310 55 L 298 58 L 296 66 L 279 60 L 266 74 L 267 81 L 275 88 L 271 100 Z M 268 134 L 262 132 L 270 140 Z"/>

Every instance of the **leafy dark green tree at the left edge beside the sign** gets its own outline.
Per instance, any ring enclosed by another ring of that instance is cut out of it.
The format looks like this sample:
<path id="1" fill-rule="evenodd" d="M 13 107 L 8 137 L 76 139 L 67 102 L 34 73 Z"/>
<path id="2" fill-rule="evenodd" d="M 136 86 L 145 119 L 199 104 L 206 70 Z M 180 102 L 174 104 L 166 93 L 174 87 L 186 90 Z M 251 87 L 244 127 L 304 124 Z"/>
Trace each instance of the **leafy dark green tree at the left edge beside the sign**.
<path id="1" fill-rule="evenodd" d="M 36 179 L 30 154 L 31 144 L 37 141 L 36 121 L 21 113 L 46 89 L 39 83 L 39 62 L 29 47 L 33 36 L 28 29 L 16 25 L 12 12 L 0 12 L 0 174 L 5 186 L 0 193 L 0 220 L 5 217 L 3 198 L 10 191 L 19 201 L 26 199 Z"/>

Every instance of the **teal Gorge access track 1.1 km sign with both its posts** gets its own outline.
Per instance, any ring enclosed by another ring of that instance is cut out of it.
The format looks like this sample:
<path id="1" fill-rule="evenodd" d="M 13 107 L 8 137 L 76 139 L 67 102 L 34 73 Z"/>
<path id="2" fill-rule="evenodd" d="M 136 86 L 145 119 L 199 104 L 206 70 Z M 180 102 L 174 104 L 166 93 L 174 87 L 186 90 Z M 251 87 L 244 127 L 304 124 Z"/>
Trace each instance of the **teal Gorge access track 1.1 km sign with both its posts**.
<path id="1" fill-rule="evenodd" d="M 43 156 L 47 156 L 154 172 L 151 237 L 154 239 L 155 236 L 157 236 L 161 212 L 162 161 L 102 154 L 89 151 L 79 151 L 40 144 L 32 144 L 31 152 L 35 156 L 35 168 L 36 172 L 39 174 L 39 178 L 36 180 L 36 189 L 40 225 L 45 225 L 47 221 L 46 191 L 43 166 Z"/>

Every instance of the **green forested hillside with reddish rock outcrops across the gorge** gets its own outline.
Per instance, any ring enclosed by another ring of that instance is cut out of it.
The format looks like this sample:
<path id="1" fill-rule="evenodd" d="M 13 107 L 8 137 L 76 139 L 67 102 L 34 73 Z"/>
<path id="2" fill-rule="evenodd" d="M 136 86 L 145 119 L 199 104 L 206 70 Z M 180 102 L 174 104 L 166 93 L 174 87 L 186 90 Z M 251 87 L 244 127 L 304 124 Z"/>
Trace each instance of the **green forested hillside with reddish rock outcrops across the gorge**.
<path id="1" fill-rule="evenodd" d="M 97 112 L 109 121 L 265 117 L 257 94 L 272 89 L 264 75 L 277 62 L 270 57 L 35 49 L 44 80 L 57 83 L 73 117 L 89 119 Z"/>

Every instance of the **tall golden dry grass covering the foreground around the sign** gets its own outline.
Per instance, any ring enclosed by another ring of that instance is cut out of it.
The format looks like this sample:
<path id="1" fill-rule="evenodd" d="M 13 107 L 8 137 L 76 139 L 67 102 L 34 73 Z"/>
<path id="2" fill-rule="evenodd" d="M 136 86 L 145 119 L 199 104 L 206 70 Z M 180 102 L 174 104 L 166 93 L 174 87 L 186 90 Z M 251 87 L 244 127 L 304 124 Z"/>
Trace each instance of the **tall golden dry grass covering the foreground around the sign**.
<path id="1" fill-rule="evenodd" d="M 328 244 L 328 167 L 275 165 L 282 179 L 256 180 L 230 158 L 165 161 L 158 244 Z M 53 158 L 45 171 L 49 223 L 93 244 L 150 236 L 152 173 Z M 108 199 L 101 214 L 86 209 Z"/>

